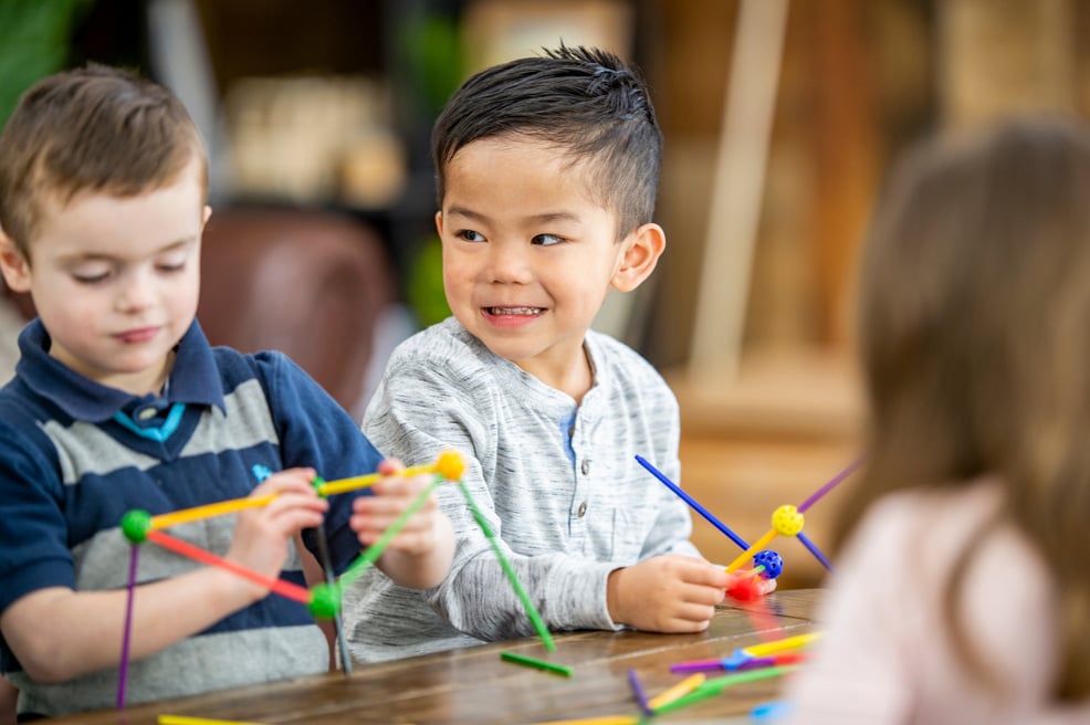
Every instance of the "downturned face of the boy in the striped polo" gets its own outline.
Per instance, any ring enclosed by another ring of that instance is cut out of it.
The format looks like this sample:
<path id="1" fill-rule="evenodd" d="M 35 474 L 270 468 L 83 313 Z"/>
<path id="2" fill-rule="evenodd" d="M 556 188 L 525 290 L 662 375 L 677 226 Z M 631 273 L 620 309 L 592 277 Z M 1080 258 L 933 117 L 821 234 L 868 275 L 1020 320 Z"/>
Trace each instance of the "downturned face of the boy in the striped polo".
<path id="1" fill-rule="evenodd" d="M 0 237 L 12 288 L 30 292 L 50 355 L 135 395 L 157 390 L 197 313 L 202 204 L 198 166 L 136 197 L 82 193 L 46 204 L 29 263 Z"/>

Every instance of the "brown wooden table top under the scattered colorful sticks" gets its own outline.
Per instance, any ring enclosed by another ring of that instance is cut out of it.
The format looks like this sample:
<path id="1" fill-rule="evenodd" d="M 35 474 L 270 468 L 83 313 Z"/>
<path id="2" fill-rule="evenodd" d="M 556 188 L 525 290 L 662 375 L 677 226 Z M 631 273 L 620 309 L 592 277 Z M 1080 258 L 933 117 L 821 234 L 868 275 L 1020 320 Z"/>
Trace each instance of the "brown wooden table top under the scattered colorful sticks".
<path id="1" fill-rule="evenodd" d="M 539 723 L 604 715 L 639 714 L 628 670 L 635 669 L 653 697 L 684 675 L 669 666 L 729 655 L 736 648 L 814 629 L 820 590 L 779 591 L 762 602 L 724 606 L 706 632 L 573 632 L 556 635 L 556 651 L 536 638 L 496 642 L 329 673 L 271 685 L 221 691 L 116 711 L 51 719 L 51 724 L 150 725 L 160 714 L 248 723 L 339 725 L 368 723 Z M 572 677 L 512 664 L 515 652 L 573 668 Z M 709 676 L 725 674 L 710 672 Z M 696 719 L 745 723 L 748 711 L 775 700 L 779 680 L 738 685 L 722 695 L 656 722 Z M 732 718 L 731 716 L 740 716 Z M 724 719 L 725 718 L 725 719 Z"/>

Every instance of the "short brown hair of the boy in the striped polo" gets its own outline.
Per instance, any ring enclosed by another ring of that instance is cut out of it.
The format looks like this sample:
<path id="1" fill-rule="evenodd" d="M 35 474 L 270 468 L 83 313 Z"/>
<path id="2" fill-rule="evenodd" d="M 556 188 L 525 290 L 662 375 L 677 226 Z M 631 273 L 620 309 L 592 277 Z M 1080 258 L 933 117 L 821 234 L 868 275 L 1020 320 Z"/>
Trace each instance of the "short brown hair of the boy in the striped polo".
<path id="1" fill-rule="evenodd" d="M 29 259 L 48 200 L 85 191 L 128 197 L 171 183 L 208 161 L 185 106 L 123 69 L 88 64 L 39 81 L 0 135 L 0 227 Z"/>

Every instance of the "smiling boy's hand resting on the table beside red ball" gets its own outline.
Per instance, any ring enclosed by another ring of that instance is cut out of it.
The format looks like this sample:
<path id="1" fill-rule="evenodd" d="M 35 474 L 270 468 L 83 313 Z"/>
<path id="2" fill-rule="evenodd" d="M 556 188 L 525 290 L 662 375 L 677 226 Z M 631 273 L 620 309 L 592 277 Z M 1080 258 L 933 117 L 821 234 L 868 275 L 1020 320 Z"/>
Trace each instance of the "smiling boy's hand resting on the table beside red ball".
<path id="1" fill-rule="evenodd" d="M 648 632 L 702 632 L 731 577 L 703 559 L 668 554 L 610 572 L 609 616 Z"/>

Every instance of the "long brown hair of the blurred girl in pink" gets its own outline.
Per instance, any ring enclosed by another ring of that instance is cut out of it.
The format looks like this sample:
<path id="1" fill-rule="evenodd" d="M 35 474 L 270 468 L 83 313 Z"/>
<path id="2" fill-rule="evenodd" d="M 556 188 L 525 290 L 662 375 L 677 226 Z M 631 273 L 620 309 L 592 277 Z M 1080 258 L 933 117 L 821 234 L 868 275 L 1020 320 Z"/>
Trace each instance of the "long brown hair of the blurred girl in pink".
<path id="1" fill-rule="evenodd" d="M 1018 118 L 911 155 L 878 209 L 860 295 L 868 463 L 843 502 L 841 542 L 890 492 L 994 475 L 1003 516 L 1058 592 L 1055 695 L 1087 697 L 1090 132 Z M 952 556 L 964 563 L 974 547 Z M 987 681 L 953 617 L 956 571 L 947 623 Z"/>

